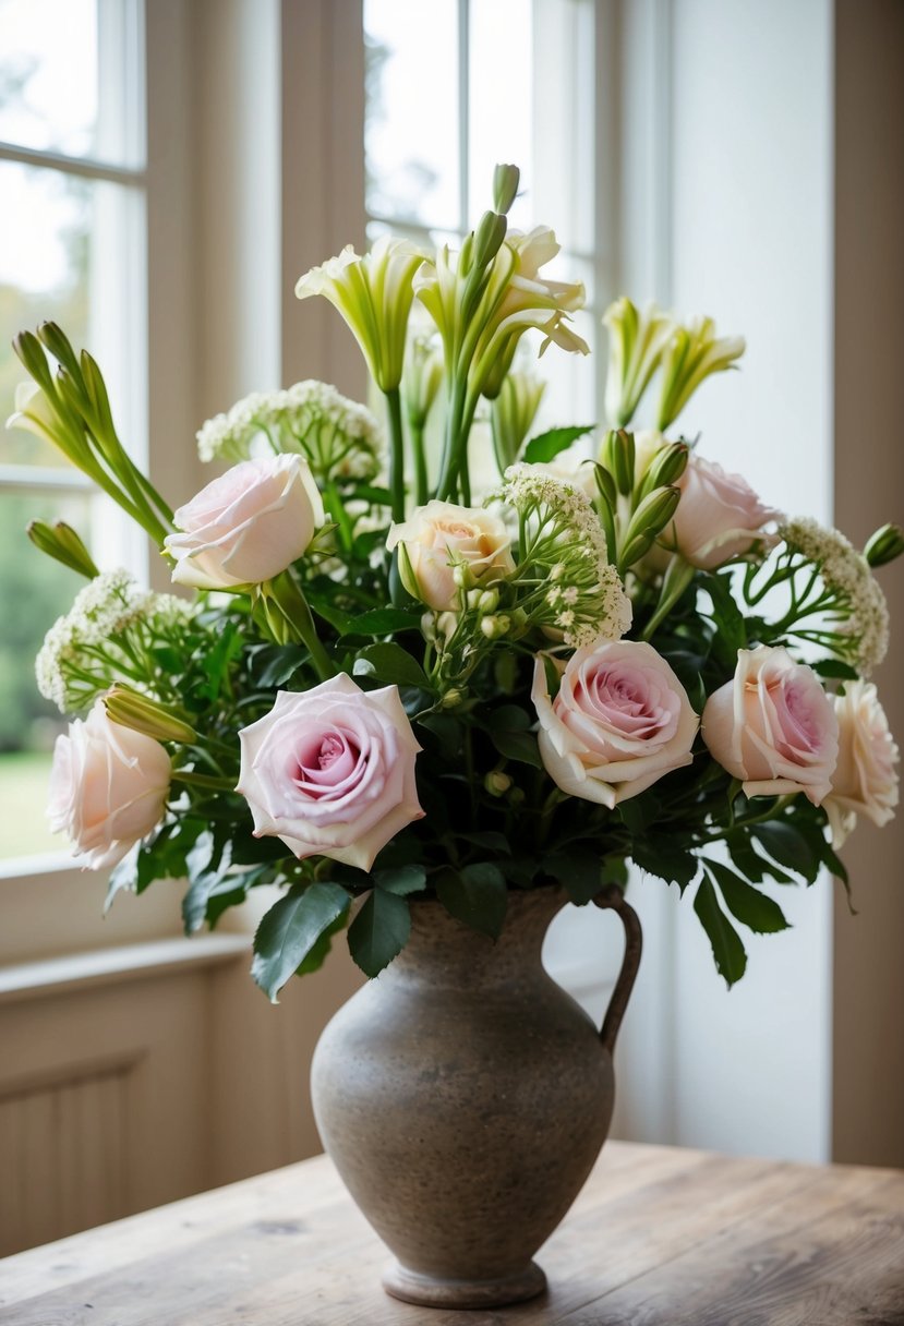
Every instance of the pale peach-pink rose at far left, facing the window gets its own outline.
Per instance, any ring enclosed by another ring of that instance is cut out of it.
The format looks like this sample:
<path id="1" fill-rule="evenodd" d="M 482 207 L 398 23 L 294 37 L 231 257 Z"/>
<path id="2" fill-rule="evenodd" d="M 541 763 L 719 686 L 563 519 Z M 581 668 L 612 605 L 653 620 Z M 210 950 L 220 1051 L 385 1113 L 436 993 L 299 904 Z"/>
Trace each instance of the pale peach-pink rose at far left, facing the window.
<path id="1" fill-rule="evenodd" d="M 107 717 L 97 700 L 85 721 L 58 736 L 48 819 L 66 833 L 82 865 L 115 866 L 159 823 L 170 790 L 170 756 L 154 737 Z"/>

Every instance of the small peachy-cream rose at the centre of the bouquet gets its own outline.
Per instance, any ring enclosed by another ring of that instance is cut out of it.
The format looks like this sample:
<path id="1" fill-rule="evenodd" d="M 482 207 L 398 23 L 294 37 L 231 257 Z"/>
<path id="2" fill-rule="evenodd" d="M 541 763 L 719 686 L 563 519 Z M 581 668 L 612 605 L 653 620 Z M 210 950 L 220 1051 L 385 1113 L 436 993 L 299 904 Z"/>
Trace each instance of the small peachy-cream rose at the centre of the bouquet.
<path id="1" fill-rule="evenodd" d="M 404 544 L 407 554 L 408 565 L 403 558 L 399 568 L 404 587 L 437 613 L 457 606 L 457 565 L 467 566 L 472 585 L 505 578 L 514 570 L 505 524 L 479 507 L 428 501 L 410 520 L 392 525 L 386 546 L 391 550 L 398 544 Z"/>

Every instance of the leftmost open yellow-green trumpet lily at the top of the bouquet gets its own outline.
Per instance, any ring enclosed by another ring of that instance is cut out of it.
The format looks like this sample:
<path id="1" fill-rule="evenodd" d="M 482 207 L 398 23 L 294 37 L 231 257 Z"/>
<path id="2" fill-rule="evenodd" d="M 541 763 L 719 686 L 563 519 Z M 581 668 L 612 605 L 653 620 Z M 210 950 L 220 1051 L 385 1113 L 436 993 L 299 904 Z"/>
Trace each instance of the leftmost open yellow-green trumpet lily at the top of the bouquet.
<path id="1" fill-rule="evenodd" d="M 346 244 L 338 257 L 313 267 L 296 285 L 300 300 L 322 294 L 338 309 L 380 391 L 394 391 L 402 381 L 412 277 L 424 257 L 408 240 L 383 235 L 370 253 L 355 253 Z"/>

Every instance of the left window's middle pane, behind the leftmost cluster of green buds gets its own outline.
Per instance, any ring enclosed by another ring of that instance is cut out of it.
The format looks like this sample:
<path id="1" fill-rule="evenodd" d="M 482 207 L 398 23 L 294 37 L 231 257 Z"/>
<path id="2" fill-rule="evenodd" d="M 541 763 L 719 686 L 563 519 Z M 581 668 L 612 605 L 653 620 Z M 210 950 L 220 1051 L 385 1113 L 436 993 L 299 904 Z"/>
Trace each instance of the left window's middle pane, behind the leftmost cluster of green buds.
<path id="1" fill-rule="evenodd" d="M 141 252 L 134 248 L 141 207 L 134 192 L 122 184 L 0 160 L 3 420 L 15 408 L 17 383 L 27 378 L 12 337 L 48 318 L 60 322 L 76 349 L 91 350 L 114 404 L 129 399 L 134 338 L 126 320 L 137 312 L 129 302 L 129 282 L 141 272 Z M 65 460 L 50 443 L 15 428 L 0 430 L 0 464 L 56 467 Z"/>

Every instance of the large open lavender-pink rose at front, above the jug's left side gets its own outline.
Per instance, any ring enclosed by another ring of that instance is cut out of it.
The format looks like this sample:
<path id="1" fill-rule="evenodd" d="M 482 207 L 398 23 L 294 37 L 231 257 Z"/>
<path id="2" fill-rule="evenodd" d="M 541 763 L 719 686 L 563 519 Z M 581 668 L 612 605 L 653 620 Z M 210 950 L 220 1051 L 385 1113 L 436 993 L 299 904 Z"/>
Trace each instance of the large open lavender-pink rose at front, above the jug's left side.
<path id="1" fill-rule="evenodd" d="M 243 728 L 237 792 L 254 834 L 296 857 L 331 857 L 370 870 L 380 847 L 423 810 L 415 788 L 420 747 L 396 687 L 362 691 L 341 674 L 310 691 L 280 691 Z"/>

